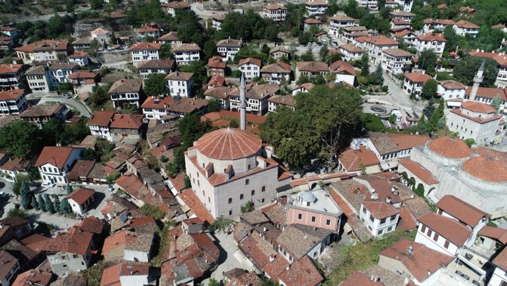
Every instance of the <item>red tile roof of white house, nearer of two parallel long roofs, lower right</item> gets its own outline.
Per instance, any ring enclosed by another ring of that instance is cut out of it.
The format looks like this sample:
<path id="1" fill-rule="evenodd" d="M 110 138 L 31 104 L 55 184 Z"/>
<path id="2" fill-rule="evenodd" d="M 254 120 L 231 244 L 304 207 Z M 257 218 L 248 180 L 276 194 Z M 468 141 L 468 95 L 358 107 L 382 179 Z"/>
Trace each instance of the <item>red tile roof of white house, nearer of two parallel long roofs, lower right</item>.
<path id="1" fill-rule="evenodd" d="M 455 219 L 436 213 L 427 213 L 417 220 L 458 247 L 464 246 L 465 241 L 472 234 L 472 230 L 467 226 L 460 224 Z"/>

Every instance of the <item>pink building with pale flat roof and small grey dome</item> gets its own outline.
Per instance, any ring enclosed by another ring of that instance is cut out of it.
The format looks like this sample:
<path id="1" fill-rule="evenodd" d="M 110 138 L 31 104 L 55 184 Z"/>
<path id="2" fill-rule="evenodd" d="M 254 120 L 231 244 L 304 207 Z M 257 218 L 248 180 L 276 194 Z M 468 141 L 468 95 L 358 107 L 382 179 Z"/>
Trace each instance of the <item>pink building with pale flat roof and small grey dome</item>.
<path id="1" fill-rule="evenodd" d="M 338 233 L 343 211 L 323 189 L 290 195 L 286 204 L 287 224 L 303 224 Z"/>

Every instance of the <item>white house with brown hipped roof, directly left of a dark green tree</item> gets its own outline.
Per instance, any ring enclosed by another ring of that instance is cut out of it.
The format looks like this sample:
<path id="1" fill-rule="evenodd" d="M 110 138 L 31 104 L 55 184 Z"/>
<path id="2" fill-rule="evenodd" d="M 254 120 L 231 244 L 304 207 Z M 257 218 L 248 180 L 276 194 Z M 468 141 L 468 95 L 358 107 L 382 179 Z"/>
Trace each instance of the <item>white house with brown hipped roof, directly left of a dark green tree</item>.
<path id="1" fill-rule="evenodd" d="M 143 79 L 134 78 L 127 80 L 117 80 L 112 84 L 108 93 L 111 97 L 114 108 L 124 108 L 124 106 L 139 107 L 139 99 L 143 90 Z"/>

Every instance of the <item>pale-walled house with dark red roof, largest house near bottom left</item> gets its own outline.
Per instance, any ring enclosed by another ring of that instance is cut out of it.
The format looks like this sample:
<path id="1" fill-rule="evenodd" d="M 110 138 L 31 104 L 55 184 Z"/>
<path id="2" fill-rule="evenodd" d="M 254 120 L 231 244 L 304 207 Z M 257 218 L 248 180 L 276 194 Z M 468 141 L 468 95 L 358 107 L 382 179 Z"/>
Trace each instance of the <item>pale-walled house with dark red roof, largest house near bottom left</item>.
<path id="1" fill-rule="evenodd" d="M 81 272 L 88 268 L 92 259 L 93 233 L 71 228 L 47 241 L 46 252 L 51 271 L 57 275 Z"/>

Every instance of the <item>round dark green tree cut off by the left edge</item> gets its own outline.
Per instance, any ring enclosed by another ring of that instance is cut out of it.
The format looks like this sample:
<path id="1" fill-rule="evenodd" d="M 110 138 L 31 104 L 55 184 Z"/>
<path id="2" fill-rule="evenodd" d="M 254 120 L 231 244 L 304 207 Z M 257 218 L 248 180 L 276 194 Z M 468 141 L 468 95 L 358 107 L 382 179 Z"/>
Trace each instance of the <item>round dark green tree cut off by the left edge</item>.
<path id="1" fill-rule="evenodd" d="M 42 149 L 40 130 L 34 123 L 25 120 L 10 121 L 7 126 L 0 128 L 0 147 L 24 158 L 30 151 Z"/>

